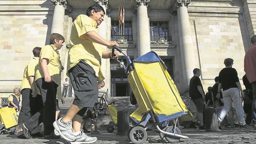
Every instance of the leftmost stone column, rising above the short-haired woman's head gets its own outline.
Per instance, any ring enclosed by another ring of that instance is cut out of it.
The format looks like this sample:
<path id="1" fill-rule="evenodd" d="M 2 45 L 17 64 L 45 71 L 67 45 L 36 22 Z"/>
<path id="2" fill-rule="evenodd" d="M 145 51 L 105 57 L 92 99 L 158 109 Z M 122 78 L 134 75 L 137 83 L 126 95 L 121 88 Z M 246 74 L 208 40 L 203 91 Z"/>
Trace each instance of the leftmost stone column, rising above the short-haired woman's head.
<path id="1" fill-rule="evenodd" d="M 51 25 L 51 33 L 58 33 L 63 36 L 65 9 L 71 10 L 66 0 L 51 0 L 54 3 L 54 12 Z"/>

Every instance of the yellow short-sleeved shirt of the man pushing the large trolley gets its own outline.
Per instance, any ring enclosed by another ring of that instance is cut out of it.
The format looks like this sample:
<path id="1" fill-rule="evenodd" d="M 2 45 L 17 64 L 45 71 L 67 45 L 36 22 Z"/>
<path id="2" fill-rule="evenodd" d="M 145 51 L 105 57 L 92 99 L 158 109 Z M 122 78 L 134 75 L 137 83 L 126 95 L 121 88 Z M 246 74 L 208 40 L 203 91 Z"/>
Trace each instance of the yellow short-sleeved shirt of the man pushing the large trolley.
<path id="1" fill-rule="evenodd" d="M 87 15 L 79 15 L 74 20 L 70 35 L 70 50 L 67 58 L 67 71 L 77 65 L 80 60 L 84 60 L 93 67 L 97 77 L 102 75 L 100 70 L 102 51 L 105 49 L 102 45 L 88 40 L 85 33 L 95 31 L 98 33 L 97 22 Z M 67 72 L 68 76 L 68 72 Z"/>

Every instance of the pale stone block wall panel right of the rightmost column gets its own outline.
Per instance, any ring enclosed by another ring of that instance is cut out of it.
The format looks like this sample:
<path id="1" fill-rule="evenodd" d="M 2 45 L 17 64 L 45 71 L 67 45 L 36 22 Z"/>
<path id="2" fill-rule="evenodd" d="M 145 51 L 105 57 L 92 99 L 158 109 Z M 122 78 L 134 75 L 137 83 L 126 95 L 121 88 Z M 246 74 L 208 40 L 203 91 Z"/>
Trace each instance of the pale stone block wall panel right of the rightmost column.
<path id="1" fill-rule="evenodd" d="M 233 67 L 242 79 L 245 48 L 238 15 L 191 16 L 190 23 L 196 67 L 202 70 L 204 90 L 215 83 L 214 78 L 225 67 L 225 58 L 234 59 Z"/>

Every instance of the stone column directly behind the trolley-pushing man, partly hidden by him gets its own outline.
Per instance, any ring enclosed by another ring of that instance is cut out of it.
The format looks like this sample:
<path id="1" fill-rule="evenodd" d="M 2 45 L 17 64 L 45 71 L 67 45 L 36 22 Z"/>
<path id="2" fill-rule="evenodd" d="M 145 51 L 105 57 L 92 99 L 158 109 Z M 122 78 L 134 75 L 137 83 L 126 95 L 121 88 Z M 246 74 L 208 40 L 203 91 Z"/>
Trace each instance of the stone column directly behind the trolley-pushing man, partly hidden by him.
<path id="1" fill-rule="evenodd" d="M 97 4 L 99 4 L 100 6 L 103 7 L 105 13 L 107 13 L 107 10 L 109 8 L 108 6 L 108 0 L 94 0 Z M 104 15 L 104 21 L 101 22 L 101 24 L 98 26 L 99 27 L 99 31 L 98 34 L 104 38 L 105 40 L 107 40 L 107 15 Z M 103 46 L 103 45 L 102 45 Z M 103 46 L 106 50 L 108 50 L 108 48 L 106 46 Z M 110 89 L 110 64 L 109 64 L 109 59 L 105 59 L 102 58 L 101 61 L 101 70 L 102 70 L 102 74 L 104 75 L 105 79 L 105 86 L 102 89 L 99 89 L 99 92 L 106 92 L 107 89 Z"/>

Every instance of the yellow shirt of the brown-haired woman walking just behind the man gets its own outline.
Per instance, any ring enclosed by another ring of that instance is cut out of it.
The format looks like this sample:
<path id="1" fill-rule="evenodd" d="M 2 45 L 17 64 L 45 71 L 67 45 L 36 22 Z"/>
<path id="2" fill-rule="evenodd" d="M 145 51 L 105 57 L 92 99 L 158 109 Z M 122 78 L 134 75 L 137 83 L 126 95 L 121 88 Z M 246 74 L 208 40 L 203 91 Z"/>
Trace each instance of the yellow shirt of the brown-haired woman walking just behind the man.
<path id="1" fill-rule="evenodd" d="M 43 58 L 49 59 L 47 63 L 47 69 L 49 75 L 51 76 L 51 80 L 54 81 L 59 86 L 61 85 L 61 74 L 60 74 L 60 54 L 58 49 L 54 45 L 46 45 L 42 47 L 40 52 L 39 60 L 41 61 Z M 38 63 L 38 69 L 35 72 L 35 81 L 39 78 L 44 78 L 44 74 L 42 71 L 41 63 Z"/>

